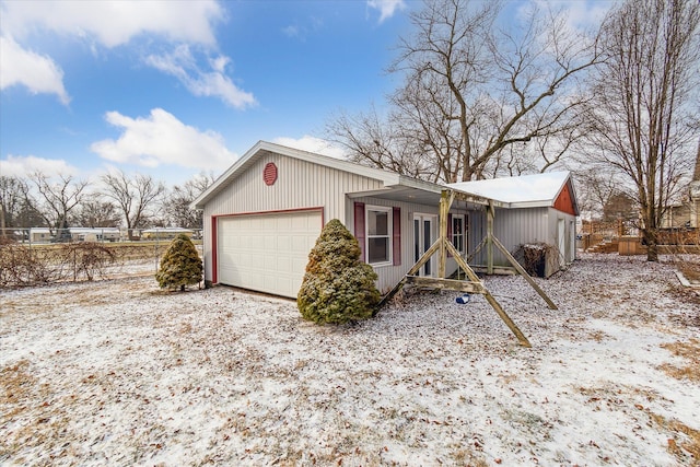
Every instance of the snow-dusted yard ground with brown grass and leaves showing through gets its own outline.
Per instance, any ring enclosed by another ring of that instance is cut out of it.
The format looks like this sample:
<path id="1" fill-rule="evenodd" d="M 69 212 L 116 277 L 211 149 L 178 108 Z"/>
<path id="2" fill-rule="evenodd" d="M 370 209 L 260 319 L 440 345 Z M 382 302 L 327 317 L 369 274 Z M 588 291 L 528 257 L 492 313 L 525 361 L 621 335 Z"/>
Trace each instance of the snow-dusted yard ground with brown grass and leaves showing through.
<path id="1" fill-rule="evenodd" d="M 700 465 L 700 299 L 582 255 L 540 287 L 408 291 L 318 327 L 153 278 L 0 292 L 0 465 Z M 699 257 L 687 257 L 695 261 Z"/>

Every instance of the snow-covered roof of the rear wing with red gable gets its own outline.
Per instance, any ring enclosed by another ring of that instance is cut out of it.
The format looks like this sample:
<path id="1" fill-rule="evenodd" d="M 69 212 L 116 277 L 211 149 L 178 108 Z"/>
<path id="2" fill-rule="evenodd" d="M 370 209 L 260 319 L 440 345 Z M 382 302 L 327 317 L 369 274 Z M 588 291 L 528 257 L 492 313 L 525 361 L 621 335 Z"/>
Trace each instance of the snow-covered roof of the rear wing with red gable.
<path id="1" fill-rule="evenodd" d="M 459 182 L 448 184 L 447 187 L 502 201 L 509 203 L 511 208 L 550 207 L 553 206 L 570 177 L 569 172 L 547 172 L 518 177 Z"/>

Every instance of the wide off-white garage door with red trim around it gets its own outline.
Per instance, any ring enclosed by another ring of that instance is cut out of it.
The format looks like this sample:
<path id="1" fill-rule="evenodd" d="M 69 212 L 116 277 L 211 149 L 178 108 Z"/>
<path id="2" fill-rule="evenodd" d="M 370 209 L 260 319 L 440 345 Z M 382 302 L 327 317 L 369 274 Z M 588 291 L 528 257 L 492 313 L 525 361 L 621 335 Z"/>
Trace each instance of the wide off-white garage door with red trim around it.
<path id="1" fill-rule="evenodd" d="M 296 297 L 322 227 L 320 211 L 220 218 L 218 281 Z"/>

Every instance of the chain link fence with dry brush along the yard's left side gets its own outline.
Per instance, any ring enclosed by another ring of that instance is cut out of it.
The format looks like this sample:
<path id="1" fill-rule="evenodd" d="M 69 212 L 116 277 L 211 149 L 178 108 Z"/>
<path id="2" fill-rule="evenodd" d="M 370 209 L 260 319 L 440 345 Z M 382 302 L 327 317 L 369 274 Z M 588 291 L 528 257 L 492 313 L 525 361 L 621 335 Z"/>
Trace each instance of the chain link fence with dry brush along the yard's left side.
<path id="1" fill-rule="evenodd" d="M 2 229 L 0 288 L 154 275 L 178 234 L 201 254 L 199 229 Z"/>

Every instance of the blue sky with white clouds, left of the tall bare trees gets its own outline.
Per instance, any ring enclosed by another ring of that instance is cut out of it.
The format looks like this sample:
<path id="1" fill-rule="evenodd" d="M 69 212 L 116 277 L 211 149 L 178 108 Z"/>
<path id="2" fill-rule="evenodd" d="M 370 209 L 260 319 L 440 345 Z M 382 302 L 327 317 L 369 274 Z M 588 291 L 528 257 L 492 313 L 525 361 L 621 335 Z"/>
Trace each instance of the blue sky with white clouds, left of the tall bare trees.
<path id="1" fill-rule="evenodd" d="M 610 4 L 558 3 L 578 22 Z M 258 140 L 334 153 L 325 122 L 383 104 L 420 5 L 0 1 L 0 175 L 116 167 L 173 185 L 219 175 Z"/>

